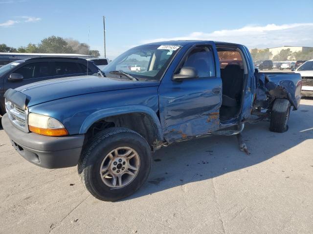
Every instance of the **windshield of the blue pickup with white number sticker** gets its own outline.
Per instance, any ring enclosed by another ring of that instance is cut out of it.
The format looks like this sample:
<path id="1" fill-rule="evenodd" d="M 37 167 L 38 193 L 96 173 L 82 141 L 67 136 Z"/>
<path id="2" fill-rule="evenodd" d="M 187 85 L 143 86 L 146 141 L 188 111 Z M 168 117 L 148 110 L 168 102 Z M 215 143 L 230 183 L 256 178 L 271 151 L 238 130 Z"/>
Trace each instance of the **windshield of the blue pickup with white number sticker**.
<path id="1" fill-rule="evenodd" d="M 107 77 L 112 71 L 122 71 L 135 78 L 160 79 L 179 46 L 141 45 L 130 49 L 114 59 L 102 71 Z M 116 76 L 116 75 L 115 75 Z"/>

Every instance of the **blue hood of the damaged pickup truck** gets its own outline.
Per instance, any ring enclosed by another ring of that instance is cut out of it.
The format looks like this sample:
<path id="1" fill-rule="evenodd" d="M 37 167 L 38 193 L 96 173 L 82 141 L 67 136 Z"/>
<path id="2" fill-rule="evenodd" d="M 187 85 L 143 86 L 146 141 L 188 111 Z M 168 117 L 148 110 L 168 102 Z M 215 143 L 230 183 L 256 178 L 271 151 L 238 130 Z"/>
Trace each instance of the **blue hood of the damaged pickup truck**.
<path id="1" fill-rule="evenodd" d="M 25 94 L 27 106 L 97 92 L 158 86 L 159 81 L 133 81 L 96 76 L 67 77 L 39 81 L 16 88 Z"/>

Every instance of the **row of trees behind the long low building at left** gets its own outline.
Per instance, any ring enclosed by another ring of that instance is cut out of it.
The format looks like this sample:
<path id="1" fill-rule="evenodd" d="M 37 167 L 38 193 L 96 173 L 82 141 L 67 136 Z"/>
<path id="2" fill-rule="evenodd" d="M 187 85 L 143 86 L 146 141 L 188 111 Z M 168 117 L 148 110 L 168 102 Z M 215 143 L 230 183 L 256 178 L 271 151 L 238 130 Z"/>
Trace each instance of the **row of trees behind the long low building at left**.
<path id="1" fill-rule="evenodd" d="M 43 39 L 38 45 L 29 43 L 26 47 L 20 46 L 18 49 L 0 44 L 0 52 L 18 53 L 51 53 L 51 54 L 81 54 L 100 57 L 98 50 L 90 50 L 86 43 L 80 43 L 74 39 L 63 39 L 51 36 Z"/>

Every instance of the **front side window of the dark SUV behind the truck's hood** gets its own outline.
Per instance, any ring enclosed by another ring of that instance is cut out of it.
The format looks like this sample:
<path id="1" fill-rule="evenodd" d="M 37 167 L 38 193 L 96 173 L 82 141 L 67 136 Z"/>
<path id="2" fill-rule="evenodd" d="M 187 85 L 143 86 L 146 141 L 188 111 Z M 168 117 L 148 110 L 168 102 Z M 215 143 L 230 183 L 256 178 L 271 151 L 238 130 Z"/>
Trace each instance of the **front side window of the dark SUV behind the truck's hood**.
<path id="1" fill-rule="evenodd" d="M 48 62 L 34 62 L 34 63 L 26 64 L 20 67 L 19 69 L 17 69 L 14 73 L 22 74 L 24 79 L 53 76 L 50 73 Z"/>

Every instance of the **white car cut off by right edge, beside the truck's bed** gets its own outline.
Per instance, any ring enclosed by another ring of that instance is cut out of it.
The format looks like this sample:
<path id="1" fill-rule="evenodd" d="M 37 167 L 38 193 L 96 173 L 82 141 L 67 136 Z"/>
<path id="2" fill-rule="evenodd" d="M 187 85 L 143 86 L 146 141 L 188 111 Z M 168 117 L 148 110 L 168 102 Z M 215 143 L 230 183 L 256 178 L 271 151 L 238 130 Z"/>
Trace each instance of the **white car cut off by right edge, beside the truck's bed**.
<path id="1" fill-rule="evenodd" d="M 306 61 L 295 70 L 302 78 L 301 95 L 313 97 L 313 59 Z"/>

